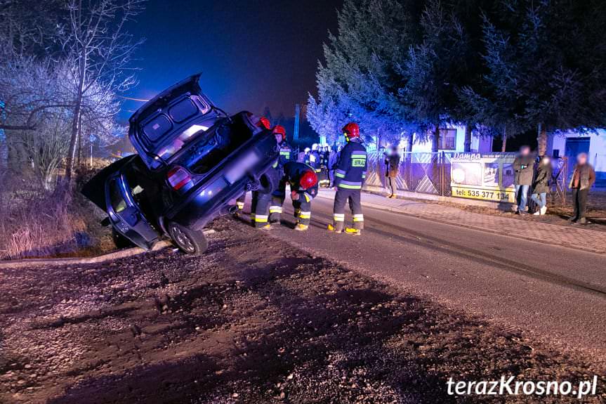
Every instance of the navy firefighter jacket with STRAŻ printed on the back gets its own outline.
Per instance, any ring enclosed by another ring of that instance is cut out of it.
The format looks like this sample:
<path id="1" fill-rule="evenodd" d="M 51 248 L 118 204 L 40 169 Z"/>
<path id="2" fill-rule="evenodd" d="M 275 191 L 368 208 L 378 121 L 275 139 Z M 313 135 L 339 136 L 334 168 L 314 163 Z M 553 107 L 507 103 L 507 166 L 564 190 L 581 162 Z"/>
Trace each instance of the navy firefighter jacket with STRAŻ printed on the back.
<path id="1" fill-rule="evenodd" d="M 338 188 L 360 190 L 366 178 L 366 148 L 360 138 L 353 138 L 339 155 L 334 171 L 334 181 Z"/>

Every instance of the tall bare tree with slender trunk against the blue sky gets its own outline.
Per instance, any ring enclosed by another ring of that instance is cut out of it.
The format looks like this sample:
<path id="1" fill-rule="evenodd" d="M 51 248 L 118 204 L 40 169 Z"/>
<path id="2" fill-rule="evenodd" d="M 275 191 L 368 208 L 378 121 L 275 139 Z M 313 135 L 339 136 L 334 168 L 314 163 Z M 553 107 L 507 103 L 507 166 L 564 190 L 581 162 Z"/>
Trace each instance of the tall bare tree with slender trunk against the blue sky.
<path id="1" fill-rule="evenodd" d="M 143 9 L 143 0 L 67 0 L 69 20 L 60 34 L 65 60 L 76 83 L 72 103 L 72 129 L 65 176 L 72 177 L 79 122 L 86 98 L 95 84 L 111 93 L 135 84 L 131 57 L 140 41 L 126 32 L 126 22 Z"/>

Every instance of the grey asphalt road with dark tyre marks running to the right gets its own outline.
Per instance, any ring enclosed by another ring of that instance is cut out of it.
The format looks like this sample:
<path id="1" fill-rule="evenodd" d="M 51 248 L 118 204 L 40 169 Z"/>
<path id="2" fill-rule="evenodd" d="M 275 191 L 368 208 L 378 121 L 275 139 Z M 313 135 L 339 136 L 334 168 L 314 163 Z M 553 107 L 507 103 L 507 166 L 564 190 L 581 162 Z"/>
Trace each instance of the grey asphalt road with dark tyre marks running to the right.
<path id="1" fill-rule="evenodd" d="M 604 255 L 370 208 L 362 236 L 336 235 L 326 229 L 332 201 L 322 197 L 312 204 L 310 230 L 296 232 L 289 200 L 284 207 L 275 237 L 606 362 Z"/>

